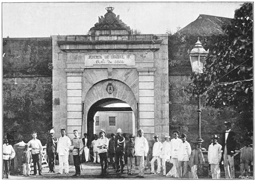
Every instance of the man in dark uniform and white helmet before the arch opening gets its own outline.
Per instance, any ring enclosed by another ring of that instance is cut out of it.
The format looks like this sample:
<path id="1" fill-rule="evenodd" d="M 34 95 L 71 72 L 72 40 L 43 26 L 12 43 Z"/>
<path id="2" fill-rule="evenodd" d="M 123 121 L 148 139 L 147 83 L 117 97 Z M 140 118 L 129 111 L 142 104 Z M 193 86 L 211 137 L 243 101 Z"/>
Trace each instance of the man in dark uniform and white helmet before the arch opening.
<path id="1" fill-rule="evenodd" d="M 116 163 L 116 171 L 121 173 L 123 172 L 123 167 L 124 167 L 124 137 L 122 136 L 122 130 L 120 128 L 117 129 L 116 131 L 117 139 L 116 139 L 116 147 L 115 147 L 115 163 Z M 121 165 L 121 170 L 120 170 L 120 165 Z"/>

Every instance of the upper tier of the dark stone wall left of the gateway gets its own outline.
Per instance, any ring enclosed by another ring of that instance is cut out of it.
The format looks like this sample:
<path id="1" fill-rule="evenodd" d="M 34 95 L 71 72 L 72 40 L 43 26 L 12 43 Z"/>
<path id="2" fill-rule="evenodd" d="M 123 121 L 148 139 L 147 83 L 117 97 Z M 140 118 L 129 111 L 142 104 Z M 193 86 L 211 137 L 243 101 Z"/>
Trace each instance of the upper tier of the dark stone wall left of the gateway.
<path id="1" fill-rule="evenodd" d="M 3 76 L 51 76 L 51 37 L 3 38 Z"/>

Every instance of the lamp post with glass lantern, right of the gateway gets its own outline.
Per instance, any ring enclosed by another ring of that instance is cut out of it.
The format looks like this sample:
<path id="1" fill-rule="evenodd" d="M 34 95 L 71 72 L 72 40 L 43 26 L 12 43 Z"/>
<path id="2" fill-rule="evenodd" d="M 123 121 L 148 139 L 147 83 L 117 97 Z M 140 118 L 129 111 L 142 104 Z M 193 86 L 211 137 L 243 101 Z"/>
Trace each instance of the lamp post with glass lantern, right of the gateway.
<path id="1" fill-rule="evenodd" d="M 204 60 L 208 52 L 202 47 L 202 43 L 199 41 L 199 37 L 193 47 L 189 52 L 189 58 L 192 66 L 192 71 L 197 73 L 202 73 Z M 203 139 L 201 138 L 201 105 L 200 105 L 200 94 L 198 93 L 197 102 L 197 126 L 198 126 L 198 138 L 196 141 L 199 143 L 199 148 L 201 149 L 201 144 Z"/>

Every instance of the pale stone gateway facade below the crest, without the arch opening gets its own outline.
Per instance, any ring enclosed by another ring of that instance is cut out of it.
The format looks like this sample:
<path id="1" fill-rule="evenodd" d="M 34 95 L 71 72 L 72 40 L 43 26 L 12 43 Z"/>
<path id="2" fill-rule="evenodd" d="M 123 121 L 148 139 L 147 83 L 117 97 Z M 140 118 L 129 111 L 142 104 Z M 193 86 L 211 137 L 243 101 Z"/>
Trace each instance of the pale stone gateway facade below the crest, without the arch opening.
<path id="1" fill-rule="evenodd" d="M 91 53 L 127 52 L 136 57 L 131 65 L 84 62 Z M 72 137 L 74 128 L 87 130 L 87 111 L 96 101 L 107 97 L 128 101 L 135 117 L 139 102 L 139 127 L 152 145 L 152 134 L 168 134 L 167 55 L 167 36 L 162 34 L 53 36 L 53 125 L 66 128 Z M 111 95 L 100 87 L 106 82 L 116 84 Z"/>

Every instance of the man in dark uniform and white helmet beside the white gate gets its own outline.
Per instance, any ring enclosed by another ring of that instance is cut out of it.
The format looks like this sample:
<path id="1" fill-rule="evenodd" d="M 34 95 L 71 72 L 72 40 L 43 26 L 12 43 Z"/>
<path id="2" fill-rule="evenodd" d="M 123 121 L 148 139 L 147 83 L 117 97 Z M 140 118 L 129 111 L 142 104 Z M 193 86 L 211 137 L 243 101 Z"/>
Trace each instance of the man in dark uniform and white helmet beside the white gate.
<path id="1" fill-rule="evenodd" d="M 50 136 L 47 138 L 46 142 L 46 153 L 48 156 L 48 164 L 49 164 L 49 171 L 55 173 L 55 156 L 56 156 L 56 149 L 57 149 L 57 141 L 58 139 L 54 136 L 55 131 L 50 129 Z"/>

